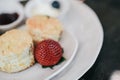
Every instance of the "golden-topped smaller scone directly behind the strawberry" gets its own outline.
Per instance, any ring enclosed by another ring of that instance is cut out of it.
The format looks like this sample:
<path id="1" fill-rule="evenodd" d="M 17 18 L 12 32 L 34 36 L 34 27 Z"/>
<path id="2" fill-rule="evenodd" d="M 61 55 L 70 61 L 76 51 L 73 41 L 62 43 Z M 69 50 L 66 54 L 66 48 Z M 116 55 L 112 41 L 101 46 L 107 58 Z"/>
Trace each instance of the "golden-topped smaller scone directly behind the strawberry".
<path id="1" fill-rule="evenodd" d="M 53 17 L 34 16 L 26 21 L 29 33 L 35 42 L 45 39 L 58 41 L 63 31 L 61 23 Z"/>

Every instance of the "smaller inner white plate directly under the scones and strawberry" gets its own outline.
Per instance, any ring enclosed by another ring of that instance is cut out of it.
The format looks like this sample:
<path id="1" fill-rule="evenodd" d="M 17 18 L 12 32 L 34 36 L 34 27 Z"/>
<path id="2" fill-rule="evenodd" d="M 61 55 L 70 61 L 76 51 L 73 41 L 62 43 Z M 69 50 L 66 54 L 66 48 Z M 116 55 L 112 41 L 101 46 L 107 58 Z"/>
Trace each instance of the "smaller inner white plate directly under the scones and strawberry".
<path id="1" fill-rule="evenodd" d="M 25 29 L 24 27 L 22 26 L 20 29 Z M 63 57 L 66 60 L 54 66 L 53 69 L 42 68 L 40 64 L 36 63 L 34 66 L 17 73 L 10 74 L 0 71 L 0 80 L 49 80 L 56 76 L 71 63 L 78 48 L 77 39 L 66 30 L 63 31 L 60 44 L 64 50 Z"/>

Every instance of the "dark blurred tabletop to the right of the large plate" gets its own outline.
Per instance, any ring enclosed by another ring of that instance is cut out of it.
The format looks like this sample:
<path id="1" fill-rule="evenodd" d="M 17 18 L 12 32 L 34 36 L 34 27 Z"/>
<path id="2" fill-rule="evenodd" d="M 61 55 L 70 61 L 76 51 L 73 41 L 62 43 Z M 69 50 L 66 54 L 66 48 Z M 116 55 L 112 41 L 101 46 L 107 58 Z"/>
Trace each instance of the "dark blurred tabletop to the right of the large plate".
<path id="1" fill-rule="evenodd" d="M 104 43 L 97 61 L 80 80 L 110 80 L 114 71 L 120 71 L 120 0 L 86 0 L 85 3 L 103 25 Z"/>

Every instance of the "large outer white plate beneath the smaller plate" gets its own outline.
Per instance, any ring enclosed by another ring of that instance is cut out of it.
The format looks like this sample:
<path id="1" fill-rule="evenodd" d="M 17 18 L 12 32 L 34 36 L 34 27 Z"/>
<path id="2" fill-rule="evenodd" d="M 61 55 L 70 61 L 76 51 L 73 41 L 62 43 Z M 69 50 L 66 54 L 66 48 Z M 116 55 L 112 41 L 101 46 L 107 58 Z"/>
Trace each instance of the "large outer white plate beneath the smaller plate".
<path id="1" fill-rule="evenodd" d="M 72 64 L 50 80 L 77 80 L 98 57 L 103 43 L 102 25 L 94 11 L 79 1 L 72 1 L 71 11 L 62 21 L 67 30 L 76 35 L 79 48 Z"/>

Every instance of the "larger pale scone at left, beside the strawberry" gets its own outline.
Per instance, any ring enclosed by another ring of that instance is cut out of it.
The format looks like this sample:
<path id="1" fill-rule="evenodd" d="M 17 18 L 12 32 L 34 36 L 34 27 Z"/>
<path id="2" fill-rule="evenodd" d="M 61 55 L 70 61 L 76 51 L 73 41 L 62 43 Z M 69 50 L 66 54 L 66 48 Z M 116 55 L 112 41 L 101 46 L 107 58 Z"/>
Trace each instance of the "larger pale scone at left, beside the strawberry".
<path id="1" fill-rule="evenodd" d="M 0 70 L 22 71 L 34 64 L 32 37 L 22 30 L 10 30 L 0 36 Z"/>

